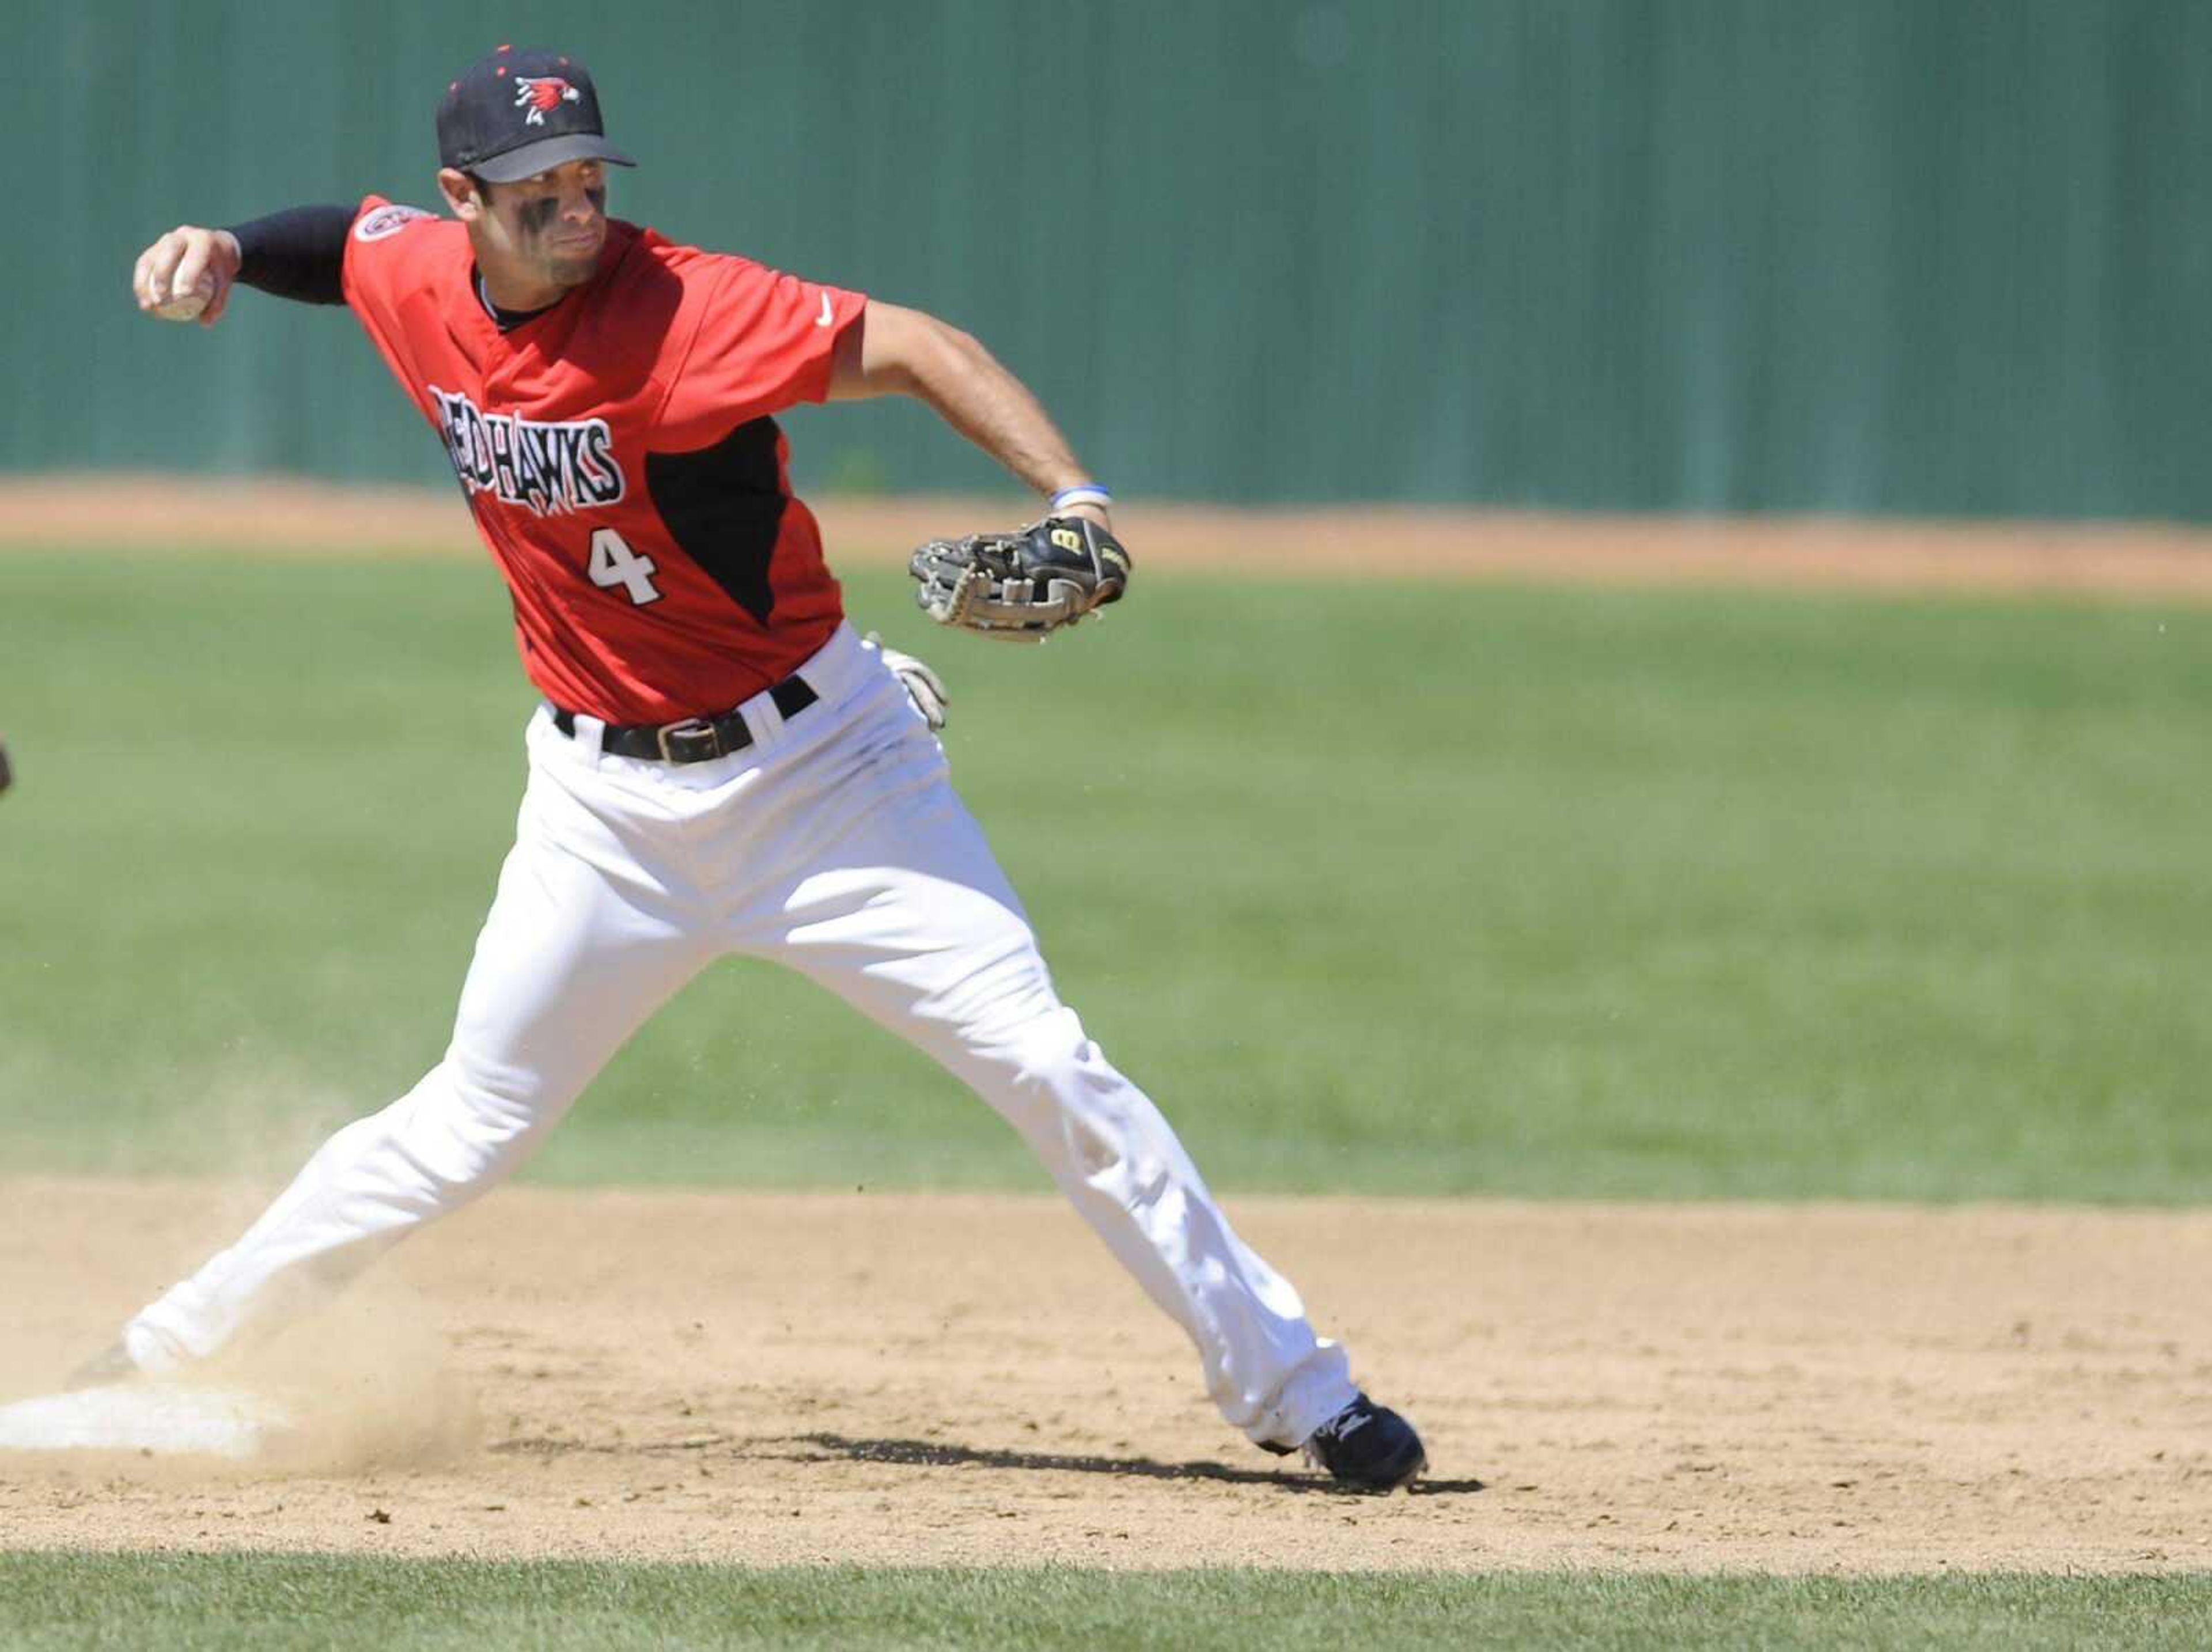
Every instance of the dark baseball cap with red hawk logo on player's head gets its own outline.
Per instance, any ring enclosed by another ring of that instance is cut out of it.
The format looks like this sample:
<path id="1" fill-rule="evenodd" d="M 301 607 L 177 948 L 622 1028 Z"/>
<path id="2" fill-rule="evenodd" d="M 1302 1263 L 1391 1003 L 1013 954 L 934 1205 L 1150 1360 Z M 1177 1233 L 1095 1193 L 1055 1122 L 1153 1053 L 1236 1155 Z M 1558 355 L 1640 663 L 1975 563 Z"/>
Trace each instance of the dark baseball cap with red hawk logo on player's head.
<path id="1" fill-rule="evenodd" d="M 460 71 L 438 104 L 438 164 L 515 184 L 562 161 L 637 166 L 608 146 L 591 71 L 555 51 L 500 46 Z"/>

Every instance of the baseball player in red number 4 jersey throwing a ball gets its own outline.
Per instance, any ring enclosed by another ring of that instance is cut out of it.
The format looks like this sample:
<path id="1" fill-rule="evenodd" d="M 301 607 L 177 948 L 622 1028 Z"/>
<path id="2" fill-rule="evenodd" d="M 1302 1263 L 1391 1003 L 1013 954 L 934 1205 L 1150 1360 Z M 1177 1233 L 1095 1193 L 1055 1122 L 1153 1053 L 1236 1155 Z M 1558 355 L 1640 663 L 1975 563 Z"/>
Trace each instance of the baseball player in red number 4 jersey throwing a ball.
<path id="1" fill-rule="evenodd" d="M 215 325 L 232 285 L 345 303 L 438 433 L 513 593 L 529 721 L 515 847 L 445 1059 L 334 1135 L 230 1250 L 137 1314 L 84 1380 L 164 1373 L 285 1318 L 493 1188 L 701 966 L 774 958 L 914 1042 L 1022 1132 L 1199 1349 L 1259 1446 L 1352 1486 L 1425 1468 L 1345 1349 L 1230 1227 L 1146 1095 L 1053 993 L 1022 905 L 947 781 L 942 690 L 845 621 L 774 414 L 918 396 L 1048 500 L 1015 562 L 942 579 L 949 624 L 1110 602 L 1104 487 L 973 338 L 606 217 L 584 64 L 500 46 L 438 108 L 449 217 L 380 197 L 137 261 L 142 310 Z M 1029 577 L 1029 575 L 1035 577 Z M 1040 626 L 1040 628 L 1048 628 Z M 1018 626 L 1026 630 L 1026 626 Z M 911 692 L 909 692 L 911 686 Z"/>

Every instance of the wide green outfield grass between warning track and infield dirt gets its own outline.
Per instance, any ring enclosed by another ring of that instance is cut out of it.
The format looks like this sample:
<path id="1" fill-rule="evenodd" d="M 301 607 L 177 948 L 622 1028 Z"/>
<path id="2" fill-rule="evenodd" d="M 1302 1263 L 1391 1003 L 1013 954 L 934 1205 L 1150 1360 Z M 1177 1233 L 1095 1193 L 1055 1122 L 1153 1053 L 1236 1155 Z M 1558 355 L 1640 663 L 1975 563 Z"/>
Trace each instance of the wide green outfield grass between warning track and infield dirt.
<path id="1" fill-rule="evenodd" d="M 1161 577 L 1015 650 L 849 597 L 1217 1183 L 2212 1192 L 2212 613 Z M 473 562 L 0 557 L 0 1163 L 279 1172 L 405 1090 L 526 705 Z M 535 1174 L 1042 1185 L 759 964 Z"/>

